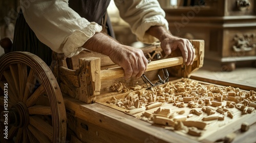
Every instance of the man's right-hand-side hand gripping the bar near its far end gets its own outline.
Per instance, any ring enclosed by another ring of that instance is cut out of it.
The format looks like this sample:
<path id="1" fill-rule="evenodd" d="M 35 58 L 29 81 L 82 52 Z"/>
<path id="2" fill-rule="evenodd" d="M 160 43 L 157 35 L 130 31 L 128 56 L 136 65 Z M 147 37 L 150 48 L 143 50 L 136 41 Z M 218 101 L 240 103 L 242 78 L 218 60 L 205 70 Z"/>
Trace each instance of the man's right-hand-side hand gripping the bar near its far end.
<path id="1" fill-rule="evenodd" d="M 191 65 L 193 63 L 195 59 L 195 51 L 193 45 L 188 39 L 173 36 L 160 26 L 151 27 L 147 33 L 160 40 L 161 48 L 166 55 L 170 55 L 172 51 L 179 48 L 182 53 L 184 63 L 186 63 L 186 65 Z"/>

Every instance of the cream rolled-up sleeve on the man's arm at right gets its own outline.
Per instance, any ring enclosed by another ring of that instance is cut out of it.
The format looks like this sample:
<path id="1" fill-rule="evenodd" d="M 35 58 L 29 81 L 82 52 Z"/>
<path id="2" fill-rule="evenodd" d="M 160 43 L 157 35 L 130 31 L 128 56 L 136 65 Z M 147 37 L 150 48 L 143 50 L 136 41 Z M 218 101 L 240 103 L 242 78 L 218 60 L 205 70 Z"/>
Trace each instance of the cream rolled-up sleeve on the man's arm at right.
<path id="1" fill-rule="evenodd" d="M 157 38 L 146 31 L 151 26 L 163 26 L 168 30 L 165 12 L 156 0 L 115 0 L 120 17 L 131 26 L 137 39 L 144 43 L 153 43 Z"/>

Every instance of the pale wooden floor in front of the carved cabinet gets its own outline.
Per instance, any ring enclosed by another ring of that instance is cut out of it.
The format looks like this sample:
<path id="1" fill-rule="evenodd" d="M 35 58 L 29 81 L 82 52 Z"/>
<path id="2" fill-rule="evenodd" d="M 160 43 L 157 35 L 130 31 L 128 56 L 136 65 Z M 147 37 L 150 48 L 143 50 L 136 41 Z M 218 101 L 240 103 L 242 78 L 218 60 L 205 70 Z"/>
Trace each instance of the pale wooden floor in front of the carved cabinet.
<path id="1" fill-rule="evenodd" d="M 204 61 L 203 67 L 191 75 L 211 77 L 216 80 L 229 80 L 233 81 L 233 83 L 252 84 L 256 87 L 256 68 L 247 63 L 237 63 L 236 66 L 236 69 L 233 71 L 223 71 L 221 65 Z"/>

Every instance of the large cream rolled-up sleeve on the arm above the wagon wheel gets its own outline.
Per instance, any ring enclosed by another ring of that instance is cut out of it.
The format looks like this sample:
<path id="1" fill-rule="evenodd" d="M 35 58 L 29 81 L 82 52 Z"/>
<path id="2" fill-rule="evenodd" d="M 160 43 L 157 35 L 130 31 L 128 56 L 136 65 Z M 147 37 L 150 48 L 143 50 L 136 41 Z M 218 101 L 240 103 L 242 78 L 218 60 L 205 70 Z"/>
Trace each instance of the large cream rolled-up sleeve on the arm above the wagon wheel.
<path id="1" fill-rule="evenodd" d="M 72 10 L 68 1 L 20 0 L 24 17 L 37 38 L 54 52 L 72 57 L 95 33 L 102 30 Z"/>

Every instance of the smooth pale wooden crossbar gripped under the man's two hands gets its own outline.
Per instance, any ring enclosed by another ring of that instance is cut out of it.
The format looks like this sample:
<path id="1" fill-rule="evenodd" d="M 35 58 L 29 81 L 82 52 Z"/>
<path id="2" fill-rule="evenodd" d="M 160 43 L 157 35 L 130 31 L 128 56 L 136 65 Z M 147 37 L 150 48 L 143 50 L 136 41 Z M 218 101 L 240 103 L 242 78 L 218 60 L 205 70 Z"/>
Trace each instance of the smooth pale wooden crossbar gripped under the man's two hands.
<path id="1" fill-rule="evenodd" d="M 183 58 L 182 57 L 174 57 L 174 58 L 167 58 L 162 59 L 158 61 L 152 61 L 147 65 L 146 71 L 166 68 L 170 66 L 176 66 L 183 64 Z M 124 70 L 122 67 L 116 67 L 116 68 L 109 68 L 101 70 L 100 73 L 101 80 L 106 79 L 113 79 L 113 78 L 121 78 L 124 77 Z"/>

